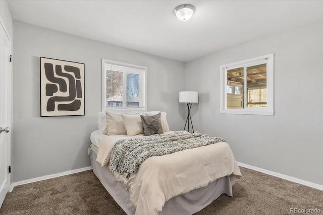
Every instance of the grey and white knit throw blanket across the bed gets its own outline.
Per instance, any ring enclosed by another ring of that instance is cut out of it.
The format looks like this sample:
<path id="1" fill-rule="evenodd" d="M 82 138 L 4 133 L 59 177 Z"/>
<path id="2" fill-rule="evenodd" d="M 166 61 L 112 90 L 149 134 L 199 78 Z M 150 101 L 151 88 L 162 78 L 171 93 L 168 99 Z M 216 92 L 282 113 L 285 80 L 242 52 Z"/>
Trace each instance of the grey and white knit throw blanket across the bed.
<path id="1" fill-rule="evenodd" d="M 198 132 L 175 131 L 170 134 L 154 134 L 118 140 L 111 151 L 110 168 L 126 178 L 136 173 L 139 165 L 152 156 L 168 155 L 186 149 L 225 141 L 221 137 L 209 137 Z"/>

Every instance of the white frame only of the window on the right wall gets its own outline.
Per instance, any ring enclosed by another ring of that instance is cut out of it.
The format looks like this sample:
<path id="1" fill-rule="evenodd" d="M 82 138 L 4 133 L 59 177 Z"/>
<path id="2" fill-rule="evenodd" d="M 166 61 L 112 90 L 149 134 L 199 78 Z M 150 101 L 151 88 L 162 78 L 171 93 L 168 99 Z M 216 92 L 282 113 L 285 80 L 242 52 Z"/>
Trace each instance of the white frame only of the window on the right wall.
<path id="1" fill-rule="evenodd" d="M 247 85 L 244 84 L 244 108 L 227 108 L 227 70 L 244 67 L 244 80 L 247 80 L 246 67 L 266 63 L 267 66 L 267 107 L 246 107 Z M 274 115 L 274 53 L 220 66 L 220 113 Z"/>

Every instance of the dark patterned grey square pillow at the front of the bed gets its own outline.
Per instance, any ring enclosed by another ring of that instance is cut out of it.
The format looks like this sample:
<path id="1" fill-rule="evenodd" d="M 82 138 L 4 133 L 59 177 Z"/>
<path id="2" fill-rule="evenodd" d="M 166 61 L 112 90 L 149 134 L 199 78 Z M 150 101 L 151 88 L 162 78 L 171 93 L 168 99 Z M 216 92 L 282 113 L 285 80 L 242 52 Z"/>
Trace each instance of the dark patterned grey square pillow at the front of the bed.
<path id="1" fill-rule="evenodd" d="M 156 133 L 163 133 L 163 127 L 161 126 L 161 114 L 158 113 L 152 116 L 140 115 L 143 125 L 143 135 L 149 136 Z"/>

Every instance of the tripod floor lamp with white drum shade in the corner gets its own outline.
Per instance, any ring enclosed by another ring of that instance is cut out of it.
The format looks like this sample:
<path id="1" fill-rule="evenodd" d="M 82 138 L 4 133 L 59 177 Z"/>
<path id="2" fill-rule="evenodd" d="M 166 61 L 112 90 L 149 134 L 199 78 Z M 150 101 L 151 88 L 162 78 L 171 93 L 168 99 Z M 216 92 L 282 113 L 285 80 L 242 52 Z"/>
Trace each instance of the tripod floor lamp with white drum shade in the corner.
<path id="1" fill-rule="evenodd" d="M 189 132 L 190 122 L 191 122 L 192 130 L 193 130 L 193 133 L 194 133 L 194 128 L 193 128 L 193 123 L 192 123 L 192 118 L 191 118 L 190 111 L 191 111 L 192 103 L 198 103 L 198 92 L 195 92 L 195 91 L 182 91 L 182 92 L 180 92 L 179 93 L 179 102 L 180 103 L 186 103 L 187 104 L 187 109 L 188 109 L 188 114 L 187 114 L 184 130 L 185 130 L 186 124 L 187 124 L 187 131 Z"/>

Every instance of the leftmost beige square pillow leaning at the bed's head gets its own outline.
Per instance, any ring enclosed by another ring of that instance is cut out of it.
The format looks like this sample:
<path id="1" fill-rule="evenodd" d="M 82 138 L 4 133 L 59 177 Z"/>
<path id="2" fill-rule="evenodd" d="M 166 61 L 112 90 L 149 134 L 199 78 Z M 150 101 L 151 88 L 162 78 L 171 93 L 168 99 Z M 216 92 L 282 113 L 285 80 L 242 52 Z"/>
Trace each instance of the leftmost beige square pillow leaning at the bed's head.
<path id="1" fill-rule="evenodd" d="M 127 134 L 121 113 L 106 112 L 107 135 Z"/>

